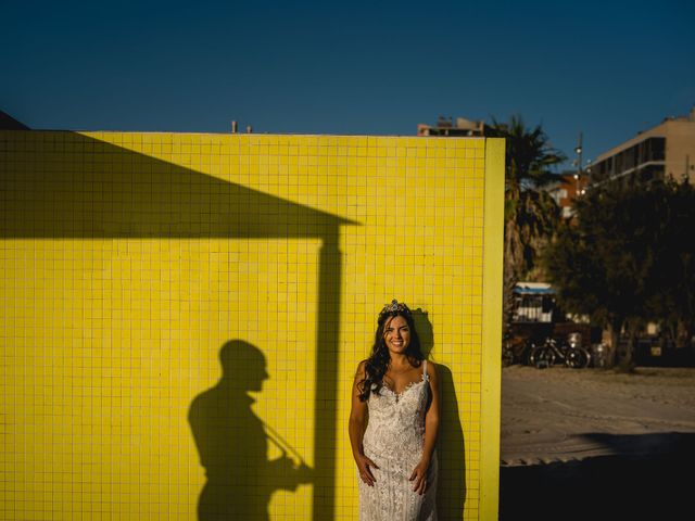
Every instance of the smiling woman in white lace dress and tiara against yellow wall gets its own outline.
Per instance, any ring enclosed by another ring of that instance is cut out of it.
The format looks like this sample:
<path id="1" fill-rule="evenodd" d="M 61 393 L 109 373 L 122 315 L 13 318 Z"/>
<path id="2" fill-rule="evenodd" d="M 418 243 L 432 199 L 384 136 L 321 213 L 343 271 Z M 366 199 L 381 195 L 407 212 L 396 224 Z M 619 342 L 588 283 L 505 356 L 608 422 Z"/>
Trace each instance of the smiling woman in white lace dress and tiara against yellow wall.
<path id="1" fill-rule="evenodd" d="M 361 521 L 437 519 L 439 385 L 420 351 L 408 307 L 379 314 L 371 355 L 352 391 L 350 442 L 357 465 Z"/>

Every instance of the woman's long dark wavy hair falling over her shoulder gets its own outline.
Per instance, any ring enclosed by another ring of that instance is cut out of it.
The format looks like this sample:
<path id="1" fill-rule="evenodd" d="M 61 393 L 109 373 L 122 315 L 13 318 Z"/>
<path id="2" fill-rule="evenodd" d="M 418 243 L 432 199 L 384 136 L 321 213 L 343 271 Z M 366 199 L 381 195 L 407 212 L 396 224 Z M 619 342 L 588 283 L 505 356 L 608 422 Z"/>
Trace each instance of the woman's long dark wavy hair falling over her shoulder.
<path id="1" fill-rule="evenodd" d="M 391 363 L 391 354 L 387 347 L 386 340 L 383 338 L 383 330 L 391 323 L 395 317 L 403 317 L 410 330 L 410 342 L 405 350 L 405 356 L 413 367 L 420 367 L 425 355 L 420 348 L 420 339 L 415 330 L 415 322 L 413 321 L 413 315 L 410 309 L 403 303 L 393 301 L 390 305 L 386 306 L 379 314 L 377 320 L 377 332 L 375 334 L 374 345 L 371 346 L 371 354 L 369 358 L 364 360 L 365 378 L 357 383 L 357 390 L 359 391 L 359 399 L 366 402 L 369 399 L 370 393 L 377 393 L 381 391 L 383 386 L 383 377 L 389 369 Z"/>

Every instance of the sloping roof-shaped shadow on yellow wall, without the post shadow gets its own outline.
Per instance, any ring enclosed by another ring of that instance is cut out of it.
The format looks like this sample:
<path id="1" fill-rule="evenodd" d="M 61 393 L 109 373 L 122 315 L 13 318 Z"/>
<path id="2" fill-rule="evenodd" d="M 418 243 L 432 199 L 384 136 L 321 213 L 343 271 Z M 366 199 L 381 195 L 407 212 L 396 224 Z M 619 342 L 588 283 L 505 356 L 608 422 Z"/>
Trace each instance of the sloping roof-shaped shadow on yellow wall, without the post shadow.
<path id="1" fill-rule="evenodd" d="M 67 131 L 0 132 L 0 237 L 8 239 L 333 242 L 340 226 L 356 224 Z"/>

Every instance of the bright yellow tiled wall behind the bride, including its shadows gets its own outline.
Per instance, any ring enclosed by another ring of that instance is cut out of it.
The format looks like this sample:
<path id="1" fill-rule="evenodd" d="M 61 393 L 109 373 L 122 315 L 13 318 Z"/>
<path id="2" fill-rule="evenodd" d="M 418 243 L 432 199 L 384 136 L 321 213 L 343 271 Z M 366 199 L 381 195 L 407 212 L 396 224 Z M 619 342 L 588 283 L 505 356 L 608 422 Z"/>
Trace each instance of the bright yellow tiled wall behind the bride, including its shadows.
<path id="1" fill-rule="evenodd" d="M 440 514 L 496 519 L 502 147 L 0 132 L 0 518 L 356 519 L 395 297 L 440 364 Z"/>

